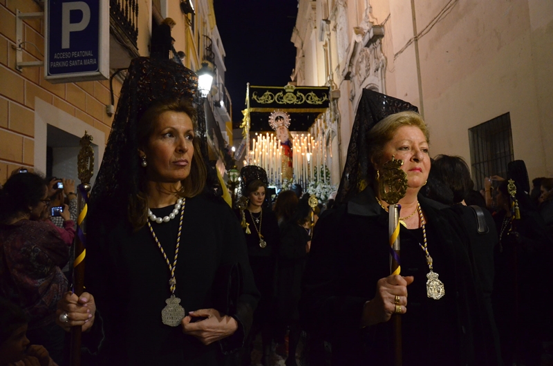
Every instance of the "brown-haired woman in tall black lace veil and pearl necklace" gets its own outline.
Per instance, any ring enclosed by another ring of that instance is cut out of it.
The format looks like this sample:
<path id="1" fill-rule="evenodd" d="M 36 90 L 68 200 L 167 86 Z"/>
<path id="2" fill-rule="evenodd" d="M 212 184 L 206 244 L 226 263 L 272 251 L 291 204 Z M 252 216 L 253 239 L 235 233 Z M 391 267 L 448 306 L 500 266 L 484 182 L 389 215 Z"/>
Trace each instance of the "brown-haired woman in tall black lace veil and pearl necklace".
<path id="1" fill-rule="evenodd" d="M 89 204 L 86 292 L 66 293 L 58 324 L 89 332 L 98 365 L 223 365 L 259 292 L 204 160 L 196 75 L 134 59 L 112 128 Z"/>

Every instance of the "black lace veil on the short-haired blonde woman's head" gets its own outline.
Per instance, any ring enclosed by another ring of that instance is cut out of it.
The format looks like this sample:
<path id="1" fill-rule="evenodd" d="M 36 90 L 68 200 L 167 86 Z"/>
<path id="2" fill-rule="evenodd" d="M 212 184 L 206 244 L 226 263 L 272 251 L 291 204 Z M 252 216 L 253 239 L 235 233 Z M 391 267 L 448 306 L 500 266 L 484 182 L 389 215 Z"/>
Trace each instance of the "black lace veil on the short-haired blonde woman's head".
<path id="1" fill-rule="evenodd" d="M 401 99 L 389 97 L 370 89 L 363 90 L 353 122 L 346 165 L 335 199 L 337 204 L 350 200 L 357 193 L 363 191 L 372 180 L 372 177 L 368 177 L 368 172 L 371 171 L 369 169 L 371 164 L 370 146 L 367 144 L 368 131 L 388 115 L 406 110 L 418 113 L 417 107 Z"/>

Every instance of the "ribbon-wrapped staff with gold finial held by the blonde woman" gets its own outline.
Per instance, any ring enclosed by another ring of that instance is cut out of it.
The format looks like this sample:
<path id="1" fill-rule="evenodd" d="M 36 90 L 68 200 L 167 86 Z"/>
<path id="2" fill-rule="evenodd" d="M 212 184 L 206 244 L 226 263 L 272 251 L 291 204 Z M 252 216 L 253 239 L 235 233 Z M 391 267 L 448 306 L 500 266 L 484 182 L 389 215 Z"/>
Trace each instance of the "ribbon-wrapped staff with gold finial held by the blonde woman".
<path id="1" fill-rule="evenodd" d="M 402 171 L 402 160 L 392 160 L 386 162 L 379 169 L 378 186 L 380 198 L 387 202 L 388 206 L 388 235 L 390 244 L 390 274 L 400 275 L 400 209 L 397 204 L 404 198 L 407 192 L 407 175 Z M 396 300 L 396 307 L 400 307 Z M 396 311 L 398 312 L 398 311 Z M 402 365 L 402 319 L 400 314 L 392 316 L 393 326 L 393 345 L 394 345 L 394 365 Z"/>

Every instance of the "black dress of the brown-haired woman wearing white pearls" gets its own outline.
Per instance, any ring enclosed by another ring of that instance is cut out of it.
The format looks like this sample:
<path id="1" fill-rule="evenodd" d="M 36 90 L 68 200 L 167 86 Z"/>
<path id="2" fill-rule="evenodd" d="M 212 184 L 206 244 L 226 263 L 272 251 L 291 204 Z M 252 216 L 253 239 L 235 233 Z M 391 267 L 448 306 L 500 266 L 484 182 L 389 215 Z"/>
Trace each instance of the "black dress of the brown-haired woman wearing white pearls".
<path id="1" fill-rule="evenodd" d="M 173 209 L 152 211 L 163 217 Z M 205 346 L 183 334 L 182 327 L 163 325 L 161 310 L 171 296 L 169 267 L 148 227 L 133 232 L 124 216 L 118 222 L 97 223 L 98 216 L 93 215 L 88 227 L 85 286 L 97 304 L 98 324 L 93 333 L 104 334 L 98 365 L 222 365 L 223 352 L 243 345 L 259 292 L 240 226 L 227 204 L 203 195 L 187 198 L 184 210 L 176 297 L 187 313 L 216 307 L 215 299 L 225 291 L 217 285 L 219 269 L 240 263 L 243 291 L 238 311 L 229 314 L 237 318 L 238 331 Z M 171 263 L 179 218 L 152 224 Z"/>

